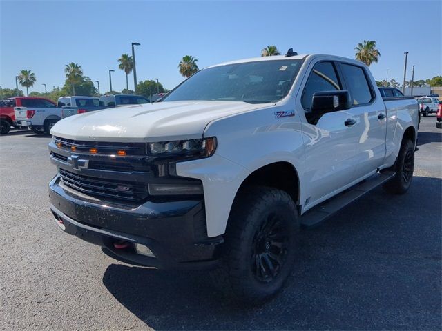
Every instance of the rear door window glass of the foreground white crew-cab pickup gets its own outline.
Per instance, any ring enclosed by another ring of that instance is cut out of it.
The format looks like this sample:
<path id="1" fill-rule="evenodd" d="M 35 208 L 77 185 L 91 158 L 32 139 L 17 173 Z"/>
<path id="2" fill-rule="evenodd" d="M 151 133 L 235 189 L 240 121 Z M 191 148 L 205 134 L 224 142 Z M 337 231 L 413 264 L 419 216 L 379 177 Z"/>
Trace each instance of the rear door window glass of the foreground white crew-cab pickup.
<path id="1" fill-rule="evenodd" d="M 342 68 L 353 104 L 363 105 L 372 101 L 372 92 L 363 68 L 347 63 L 342 63 Z"/>

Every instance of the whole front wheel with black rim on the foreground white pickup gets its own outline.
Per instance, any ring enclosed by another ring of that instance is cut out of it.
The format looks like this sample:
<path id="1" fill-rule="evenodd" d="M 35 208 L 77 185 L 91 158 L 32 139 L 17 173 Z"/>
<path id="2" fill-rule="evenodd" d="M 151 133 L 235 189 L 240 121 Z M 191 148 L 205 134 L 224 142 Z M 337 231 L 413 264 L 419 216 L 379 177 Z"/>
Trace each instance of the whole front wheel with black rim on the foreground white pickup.
<path id="1" fill-rule="evenodd" d="M 249 304 L 270 299 L 289 277 L 298 241 L 298 211 L 287 192 L 245 188 L 233 204 L 213 281 L 229 297 Z"/>

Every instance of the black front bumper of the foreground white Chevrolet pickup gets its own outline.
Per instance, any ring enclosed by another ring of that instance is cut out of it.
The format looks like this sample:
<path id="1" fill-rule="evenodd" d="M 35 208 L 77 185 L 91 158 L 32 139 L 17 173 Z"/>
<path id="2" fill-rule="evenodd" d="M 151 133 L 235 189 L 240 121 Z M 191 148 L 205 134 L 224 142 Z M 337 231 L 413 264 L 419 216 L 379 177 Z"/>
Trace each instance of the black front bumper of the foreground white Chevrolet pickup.
<path id="1" fill-rule="evenodd" d="M 204 201 L 106 203 L 64 186 L 57 175 L 49 183 L 51 210 L 65 232 L 106 248 L 126 263 L 160 269 L 210 269 L 218 265 L 222 237 L 208 238 Z M 115 248 L 124 241 L 126 248 Z M 137 254 L 146 245 L 155 258 Z"/>

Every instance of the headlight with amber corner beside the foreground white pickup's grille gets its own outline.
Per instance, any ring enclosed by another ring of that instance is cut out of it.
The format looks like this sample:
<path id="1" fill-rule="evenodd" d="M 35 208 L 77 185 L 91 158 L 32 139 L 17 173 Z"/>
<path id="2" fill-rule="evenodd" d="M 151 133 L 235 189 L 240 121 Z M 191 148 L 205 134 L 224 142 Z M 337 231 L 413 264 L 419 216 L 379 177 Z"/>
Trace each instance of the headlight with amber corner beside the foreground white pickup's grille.
<path id="1" fill-rule="evenodd" d="M 211 157 L 215 150 L 215 137 L 148 143 L 148 152 L 153 157 Z"/>

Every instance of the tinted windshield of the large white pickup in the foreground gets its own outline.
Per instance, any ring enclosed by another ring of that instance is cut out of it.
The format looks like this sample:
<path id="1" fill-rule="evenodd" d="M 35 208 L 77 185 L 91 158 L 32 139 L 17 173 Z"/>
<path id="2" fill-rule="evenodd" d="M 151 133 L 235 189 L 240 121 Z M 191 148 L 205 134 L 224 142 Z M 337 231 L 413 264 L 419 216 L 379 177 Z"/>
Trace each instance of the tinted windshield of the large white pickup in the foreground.
<path id="1" fill-rule="evenodd" d="M 228 64 L 197 72 L 162 101 L 206 100 L 271 103 L 284 98 L 302 60 Z"/>

